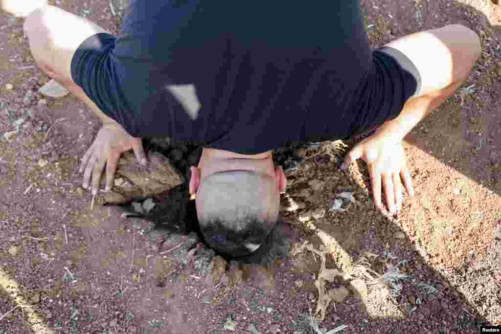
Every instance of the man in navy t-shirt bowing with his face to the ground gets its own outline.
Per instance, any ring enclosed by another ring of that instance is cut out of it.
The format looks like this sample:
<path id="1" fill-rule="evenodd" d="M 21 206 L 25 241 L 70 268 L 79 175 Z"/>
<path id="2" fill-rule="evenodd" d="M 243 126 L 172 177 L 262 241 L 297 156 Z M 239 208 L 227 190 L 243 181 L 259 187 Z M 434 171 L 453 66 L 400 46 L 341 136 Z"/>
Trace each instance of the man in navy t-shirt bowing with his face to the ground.
<path id="1" fill-rule="evenodd" d="M 405 135 L 468 77 L 481 49 L 460 25 L 371 50 L 357 0 L 133 1 L 118 36 L 43 0 L 0 0 L 26 17 L 38 65 L 101 118 L 82 159 L 84 188 L 113 184 L 120 155 L 147 163 L 144 137 L 203 145 L 190 193 L 206 241 L 256 250 L 279 215 L 287 180 L 272 150 L 377 129 L 362 158 L 374 202 L 399 210 L 412 182 Z"/>

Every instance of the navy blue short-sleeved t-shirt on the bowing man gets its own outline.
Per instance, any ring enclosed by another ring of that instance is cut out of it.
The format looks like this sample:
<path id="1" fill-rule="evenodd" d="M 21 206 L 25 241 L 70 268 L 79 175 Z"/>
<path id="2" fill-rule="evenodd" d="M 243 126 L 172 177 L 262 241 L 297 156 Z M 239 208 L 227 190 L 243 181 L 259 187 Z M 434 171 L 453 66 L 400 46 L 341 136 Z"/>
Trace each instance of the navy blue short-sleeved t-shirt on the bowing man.
<path id="1" fill-rule="evenodd" d="M 402 62 L 370 50 L 358 1 L 140 0 L 72 76 L 132 136 L 255 154 L 395 118 L 419 81 Z"/>

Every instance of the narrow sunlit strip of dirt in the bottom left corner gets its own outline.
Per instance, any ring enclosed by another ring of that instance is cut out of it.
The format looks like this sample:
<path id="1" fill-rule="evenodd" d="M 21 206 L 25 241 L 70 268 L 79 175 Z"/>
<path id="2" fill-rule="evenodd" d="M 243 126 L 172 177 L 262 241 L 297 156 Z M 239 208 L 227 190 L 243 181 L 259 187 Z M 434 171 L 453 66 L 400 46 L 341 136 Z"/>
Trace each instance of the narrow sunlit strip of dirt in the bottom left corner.
<path id="1" fill-rule="evenodd" d="M 4 289 L 11 299 L 14 300 L 17 305 L 15 308 L 23 309 L 24 314 L 28 317 L 30 326 L 36 334 L 54 334 L 54 330 L 47 328 L 46 323 L 35 310 L 35 306 L 30 305 L 22 296 L 18 282 L 10 278 L 9 274 L 2 267 L 0 267 L 0 288 Z"/>

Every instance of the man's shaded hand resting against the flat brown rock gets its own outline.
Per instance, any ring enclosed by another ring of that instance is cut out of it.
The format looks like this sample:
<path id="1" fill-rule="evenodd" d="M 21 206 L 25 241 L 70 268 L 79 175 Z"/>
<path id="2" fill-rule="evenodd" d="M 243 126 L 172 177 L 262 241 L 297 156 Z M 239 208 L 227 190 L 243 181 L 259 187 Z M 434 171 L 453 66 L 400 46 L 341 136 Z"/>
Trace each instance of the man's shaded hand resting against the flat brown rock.
<path id="1" fill-rule="evenodd" d="M 115 179 L 118 159 L 123 152 L 134 150 L 141 165 L 146 165 L 141 138 L 129 135 L 119 124 L 105 124 L 97 133 L 94 143 L 82 158 L 80 173 L 84 173 L 83 187 L 87 189 L 92 178 L 92 194 L 96 195 L 106 166 L 106 189 L 110 191 Z"/>

